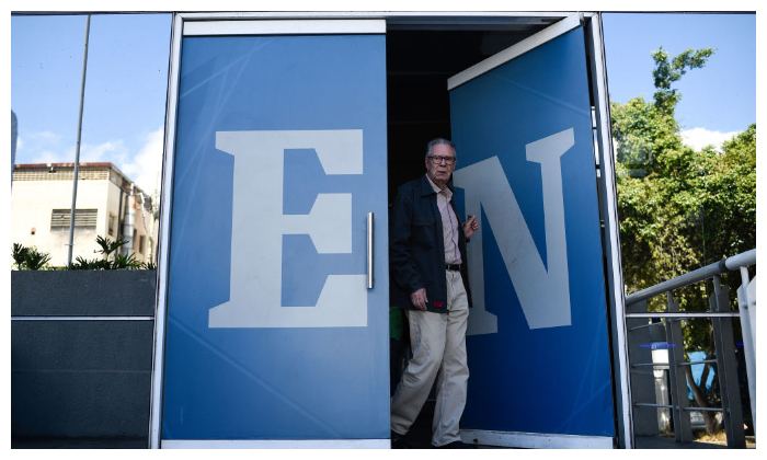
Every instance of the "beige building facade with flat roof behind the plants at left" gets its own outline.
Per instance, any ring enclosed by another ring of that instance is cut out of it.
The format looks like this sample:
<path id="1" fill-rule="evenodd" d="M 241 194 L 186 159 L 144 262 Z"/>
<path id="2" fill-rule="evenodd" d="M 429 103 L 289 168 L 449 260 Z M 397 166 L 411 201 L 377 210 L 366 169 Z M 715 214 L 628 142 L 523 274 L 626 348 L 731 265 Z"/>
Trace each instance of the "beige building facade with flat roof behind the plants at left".
<path id="1" fill-rule="evenodd" d="M 11 242 L 47 252 L 54 267 L 67 265 L 73 163 L 16 164 L 11 187 Z M 156 262 L 152 197 L 112 163 L 81 163 L 72 262 L 101 258 L 96 237 L 123 238 L 122 254 Z"/>

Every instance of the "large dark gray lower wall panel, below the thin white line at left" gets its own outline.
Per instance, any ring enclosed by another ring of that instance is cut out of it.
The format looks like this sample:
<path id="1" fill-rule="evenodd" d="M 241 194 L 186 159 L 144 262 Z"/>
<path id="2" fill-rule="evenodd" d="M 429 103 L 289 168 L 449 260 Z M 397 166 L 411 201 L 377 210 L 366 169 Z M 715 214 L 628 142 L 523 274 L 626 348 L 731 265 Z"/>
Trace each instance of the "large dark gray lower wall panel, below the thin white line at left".
<path id="1" fill-rule="evenodd" d="M 152 323 L 11 323 L 11 435 L 144 437 Z"/>

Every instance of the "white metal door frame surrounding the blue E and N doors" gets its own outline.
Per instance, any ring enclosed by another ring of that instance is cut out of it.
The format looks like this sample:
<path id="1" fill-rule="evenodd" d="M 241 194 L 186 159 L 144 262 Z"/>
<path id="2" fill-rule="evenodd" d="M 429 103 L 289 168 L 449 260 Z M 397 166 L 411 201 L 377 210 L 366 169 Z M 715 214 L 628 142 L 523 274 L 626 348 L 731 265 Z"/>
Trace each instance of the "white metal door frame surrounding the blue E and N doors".
<path id="1" fill-rule="evenodd" d="M 248 13 L 173 13 L 171 47 L 168 76 L 168 96 L 165 104 L 165 134 L 162 160 L 162 182 L 161 198 L 162 216 L 160 218 L 158 238 L 158 275 L 156 294 L 156 317 L 153 335 L 153 360 L 151 371 L 151 394 L 149 414 L 149 447 L 159 448 L 161 438 L 161 414 L 162 414 L 162 388 L 164 373 L 164 343 L 167 329 L 168 308 L 168 277 L 169 277 L 169 255 L 170 255 L 170 233 L 172 215 L 172 191 L 173 191 L 173 168 L 175 151 L 175 130 L 179 107 L 179 83 L 181 66 L 181 42 L 186 32 L 194 35 L 208 35 L 220 21 L 234 21 L 229 23 L 228 28 L 231 34 L 242 33 L 243 26 L 272 26 L 270 33 L 274 34 L 296 34 L 330 33 L 331 27 L 340 24 L 341 21 L 351 21 L 347 24 L 356 23 L 360 26 L 364 23 L 384 23 L 384 30 L 363 28 L 367 32 L 358 33 L 386 33 L 386 30 L 508 30 L 546 26 L 565 20 L 572 12 L 248 12 Z M 586 54 L 591 70 L 589 84 L 592 85 L 595 101 L 593 107 L 593 130 L 595 135 L 595 161 L 598 165 L 599 176 L 597 181 L 597 192 L 599 195 L 599 214 L 604 221 L 603 252 L 606 261 L 607 300 L 610 323 L 611 343 L 611 369 L 615 393 L 615 418 L 617 426 L 617 446 L 619 448 L 633 448 L 632 411 L 630 403 L 630 381 L 628 371 L 628 347 L 625 326 L 625 295 L 623 276 L 620 256 L 620 240 L 618 227 L 617 189 L 615 180 L 615 163 L 613 151 L 613 136 L 609 100 L 607 93 L 607 71 L 605 65 L 604 36 L 602 28 L 602 15 L 598 12 L 580 13 L 583 18 Z M 285 21 L 290 20 L 290 23 Z M 365 20 L 365 22 L 360 22 Z M 238 22 L 242 21 L 238 24 Z M 260 24 L 259 24 L 260 23 Z M 270 24 L 271 23 L 271 24 Z M 297 24 L 304 27 L 297 28 Z M 324 23 L 324 25 L 322 24 Z M 377 27 L 380 27 L 378 25 Z M 237 32 L 240 31 L 240 32 Z M 323 32 L 324 31 L 324 32 Z M 351 31 L 351 28 L 350 28 Z M 374 32 L 377 31 L 377 32 Z M 220 31 L 219 31 L 220 32 Z M 216 32 L 218 35 L 219 32 Z M 335 30 L 335 33 L 339 31 Z M 262 32 L 263 33 L 263 32 Z M 342 32 L 343 33 L 343 32 Z M 345 32 L 350 33 L 350 32 Z M 539 435 L 546 436 L 546 435 Z M 340 446 L 340 441 L 330 441 L 332 447 L 367 447 L 359 441 Z M 312 447 L 320 448 L 324 444 Z M 568 444 L 562 447 L 587 448 L 589 442 Z M 190 446 L 195 447 L 195 446 Z M 196 446 L 202 447 L 202 446 Z M 227 447 L 217 445 L 209 447 Z M 234 447 L 234 446 L 231 446 Z M 262 441 L 252 447 L 309 447 L 300 441 L 284 441 L 279 445 L 270 441 Z M 328 445 L 327 447 L 331 447 Z M 374 447 L 374 446 L 369 446 Z M 376 446 L 378 448 L 382 446 Z M 549 445 L 549 447 L 551 447 Z"/>

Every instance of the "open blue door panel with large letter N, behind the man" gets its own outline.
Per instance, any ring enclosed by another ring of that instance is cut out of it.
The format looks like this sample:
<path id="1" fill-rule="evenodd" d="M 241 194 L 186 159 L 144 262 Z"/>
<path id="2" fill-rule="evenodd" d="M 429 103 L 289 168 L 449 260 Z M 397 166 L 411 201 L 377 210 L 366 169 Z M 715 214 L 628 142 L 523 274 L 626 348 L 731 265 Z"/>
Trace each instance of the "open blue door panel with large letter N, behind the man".
<path id="1" fill-rule="evenodd" d="M 615 435 L 584 34 L 450 92 L 469 244 L 461 428 Z"/>

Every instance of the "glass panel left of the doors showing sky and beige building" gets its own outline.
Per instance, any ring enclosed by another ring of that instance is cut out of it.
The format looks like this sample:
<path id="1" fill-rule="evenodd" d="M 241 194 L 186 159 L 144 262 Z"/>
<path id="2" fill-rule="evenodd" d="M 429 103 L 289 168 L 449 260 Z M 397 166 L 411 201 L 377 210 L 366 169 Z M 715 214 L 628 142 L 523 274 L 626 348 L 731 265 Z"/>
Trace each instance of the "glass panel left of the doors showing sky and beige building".
<path id="1" fill-rule="evenodd" d="M 72 262 L 102 258 L 96 237 L 149 241 L 154 262 L 171 14 L 96 14 L 88 42 Z M 11 239 L 67 265 L 85 15 L 11 16 Z M 14 123 L 15 122 L 15 123 Z M 55 209 L 61 221 L 50 222 Z M 116 218 L 116 221 L 115 221 Z M 49 223 L 50 222 L 50 223 Z M 32 232 L 31 229 L 36 231 Z M 64 231 L 62 231 L 64 230 Z"/>

